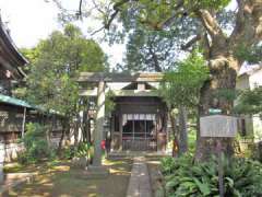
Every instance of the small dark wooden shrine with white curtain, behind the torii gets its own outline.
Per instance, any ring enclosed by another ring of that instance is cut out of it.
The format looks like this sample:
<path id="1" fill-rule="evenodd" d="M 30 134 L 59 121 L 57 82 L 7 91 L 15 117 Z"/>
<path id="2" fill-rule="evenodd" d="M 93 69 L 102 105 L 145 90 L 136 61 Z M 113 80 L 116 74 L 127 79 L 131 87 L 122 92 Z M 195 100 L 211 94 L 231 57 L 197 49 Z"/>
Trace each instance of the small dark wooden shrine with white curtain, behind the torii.
<path id="1" fill-rule="evenodd" d="M 147 83 L 131 83 L 122 90 L 155 89 Z M 111 114 L 114 150 L 163 150 L 166 134 L 166 105 L 155 96 L 117 96 Z M 164 140 L 164 141 L 163 141 Z M 158 142 L 158 143 L 157 143 Z M 157 146 L 158 144 L 158 146 Z"/>

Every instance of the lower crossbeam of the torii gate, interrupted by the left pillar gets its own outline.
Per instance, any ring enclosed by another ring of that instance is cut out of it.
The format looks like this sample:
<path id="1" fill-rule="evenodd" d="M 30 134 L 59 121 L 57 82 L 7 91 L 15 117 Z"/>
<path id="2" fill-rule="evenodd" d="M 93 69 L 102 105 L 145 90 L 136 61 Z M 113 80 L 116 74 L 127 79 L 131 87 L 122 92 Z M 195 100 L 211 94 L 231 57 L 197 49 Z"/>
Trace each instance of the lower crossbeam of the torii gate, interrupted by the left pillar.
<path id="1" fill-rule="evenodd" d="M 158 96 L 155 90 L 111 90 L 115 96 Z M 97 90 L 82 90 L 80 91 L 81 96 L 97 96 Z"/>

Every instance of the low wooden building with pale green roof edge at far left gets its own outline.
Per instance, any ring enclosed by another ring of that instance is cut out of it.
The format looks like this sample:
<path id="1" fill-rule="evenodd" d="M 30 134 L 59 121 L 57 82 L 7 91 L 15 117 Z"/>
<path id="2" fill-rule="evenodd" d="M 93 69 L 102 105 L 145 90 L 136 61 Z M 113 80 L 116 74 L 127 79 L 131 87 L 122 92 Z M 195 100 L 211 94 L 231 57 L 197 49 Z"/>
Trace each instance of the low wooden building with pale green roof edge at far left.
<path id="1" fill-rule="evenodd" d="M 51 137 L 59 138 L 62 117 L 29 105 L 23 100 L 0 94 L 0 142 L 16 142 L 24 135 L 27 123 L 52 124 Z"/>

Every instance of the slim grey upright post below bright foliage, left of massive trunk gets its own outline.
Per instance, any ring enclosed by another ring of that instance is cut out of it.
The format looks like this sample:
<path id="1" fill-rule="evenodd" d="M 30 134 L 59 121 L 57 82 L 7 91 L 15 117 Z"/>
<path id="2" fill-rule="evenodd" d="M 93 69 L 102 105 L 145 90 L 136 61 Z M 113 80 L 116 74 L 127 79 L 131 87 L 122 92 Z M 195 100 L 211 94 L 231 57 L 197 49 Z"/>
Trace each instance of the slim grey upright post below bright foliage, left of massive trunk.
<path id="1" fill-rule="evenodd" d="M 188 151 L 188 113 L 184 106 L 179 107 L 179 154 Z"/>

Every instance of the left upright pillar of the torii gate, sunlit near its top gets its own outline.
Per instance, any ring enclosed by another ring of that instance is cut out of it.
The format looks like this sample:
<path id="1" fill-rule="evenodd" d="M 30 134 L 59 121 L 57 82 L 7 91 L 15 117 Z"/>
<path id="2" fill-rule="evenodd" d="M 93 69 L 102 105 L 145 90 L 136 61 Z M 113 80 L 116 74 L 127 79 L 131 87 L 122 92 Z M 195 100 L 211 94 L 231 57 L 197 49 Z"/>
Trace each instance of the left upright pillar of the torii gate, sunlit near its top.
<path id="1" fill-rule="evenodd" d="M 103 140 L 104 120 L 105 120 L 105 102 L 106 102 L 105 86 L 106 86 L 105 81 L 98 82 L 96 126 L 95 126 L 95 132 L 94 132 L 94 160 L 93 160 L 94 166 L 102 165 L 100 142 Z"/>

